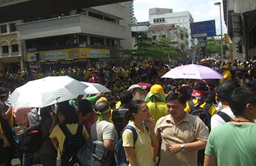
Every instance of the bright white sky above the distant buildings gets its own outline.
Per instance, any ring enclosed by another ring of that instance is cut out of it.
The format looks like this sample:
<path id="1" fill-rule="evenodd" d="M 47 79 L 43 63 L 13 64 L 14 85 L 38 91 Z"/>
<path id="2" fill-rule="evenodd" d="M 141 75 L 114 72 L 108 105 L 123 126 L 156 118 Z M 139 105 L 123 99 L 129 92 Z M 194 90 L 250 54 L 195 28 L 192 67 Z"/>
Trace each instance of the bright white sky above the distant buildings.
<path id="1" fill-rule="evenodd" d="M 174 12 L 189 11 L 194 22 L 215 20 L 216 34 L 220 34 L 220 6 L 214 3 L 221 0 L 134 0 L 134 16 L 138 22 L 148 21 L 150 8 L 171 8 Z M 227 27 L 223 18 L 223 6 L 221 4 L 222 31 L 227 33 Z"/>

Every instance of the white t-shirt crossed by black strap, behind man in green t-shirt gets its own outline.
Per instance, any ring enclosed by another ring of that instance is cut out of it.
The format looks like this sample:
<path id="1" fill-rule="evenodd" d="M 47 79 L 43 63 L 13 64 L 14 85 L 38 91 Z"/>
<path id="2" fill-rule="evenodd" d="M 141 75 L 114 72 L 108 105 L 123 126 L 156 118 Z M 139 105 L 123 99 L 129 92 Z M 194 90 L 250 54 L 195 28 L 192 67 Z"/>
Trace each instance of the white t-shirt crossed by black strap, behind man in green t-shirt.
<path id="1" fill-rule="evenodd" d="M 236 116 L 234 116 L 232 110 L 230 108 L 222 109 L 221 112 L 226 113 L 231 119 L 235 119 Z M 222 117 L 220 117 L 218 114 L 214 114 L 211 117 L 211 129 L 215 128 L 216 126 L 220 126 L 221 124 L 225 124 L 226 122 Z"/>

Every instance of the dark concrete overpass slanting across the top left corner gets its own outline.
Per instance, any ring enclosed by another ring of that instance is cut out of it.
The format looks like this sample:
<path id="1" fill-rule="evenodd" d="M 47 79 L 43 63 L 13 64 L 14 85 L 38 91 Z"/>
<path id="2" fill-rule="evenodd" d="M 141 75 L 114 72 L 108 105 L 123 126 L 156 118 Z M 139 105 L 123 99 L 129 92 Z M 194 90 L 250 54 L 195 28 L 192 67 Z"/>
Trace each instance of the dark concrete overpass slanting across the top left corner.
<path id="1" fill-rule="evenodd" d="M 0 0 L 0 23 L 124 1 L 129 0 Z"/>

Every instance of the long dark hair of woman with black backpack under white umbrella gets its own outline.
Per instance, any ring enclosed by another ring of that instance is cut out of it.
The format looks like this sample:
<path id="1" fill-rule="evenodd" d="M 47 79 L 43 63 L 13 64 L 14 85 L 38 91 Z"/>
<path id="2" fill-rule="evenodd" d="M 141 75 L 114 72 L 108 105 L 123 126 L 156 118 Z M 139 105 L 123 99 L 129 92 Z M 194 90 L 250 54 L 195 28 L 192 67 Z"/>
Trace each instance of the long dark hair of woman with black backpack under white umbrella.
<path id="1" fill-rule="evenodd" d="M 71 106 L 68 102 L 59 103 L 58 112 L 65 116 L 66 124 L 78 123 L 76 108 Z"/>

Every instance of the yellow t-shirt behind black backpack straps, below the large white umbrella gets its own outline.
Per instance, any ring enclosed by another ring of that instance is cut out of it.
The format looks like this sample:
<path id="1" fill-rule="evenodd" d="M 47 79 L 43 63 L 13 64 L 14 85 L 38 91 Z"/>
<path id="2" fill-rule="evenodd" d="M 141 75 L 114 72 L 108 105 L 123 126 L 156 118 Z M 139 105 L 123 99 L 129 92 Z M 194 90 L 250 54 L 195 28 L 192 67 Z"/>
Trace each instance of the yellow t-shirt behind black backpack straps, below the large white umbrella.
<path id="1" fill-rule="evenodd" d="M 77 126 L 78 126 L 77 123 L 66 124 L 66 125 L 72 135 L 76 134 Z M 54 127 L 54 129 L 52 130 L 52 133 L 49 137 L 51 139 L 57 138 L 57 140 L 59 142 L 60 148 L 58 149 L 57 160 L 60 160 L 61 159 L 60 151 L 62 151 L 62 149 L 63 149 L 63 144 L 64 144 L 64 140 L 66 137 L 65 137 L 64 133 L 61 131 L 60 126 L 58 124 Z M 88 138 L 89 138 L 88 133 L 86 132 L 86 129 L 84 126 L 83 126 L 82 137 L 83 137 L 84 141 L 88 140 Z"/>

